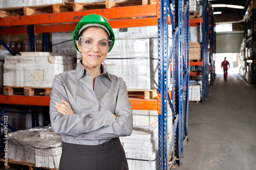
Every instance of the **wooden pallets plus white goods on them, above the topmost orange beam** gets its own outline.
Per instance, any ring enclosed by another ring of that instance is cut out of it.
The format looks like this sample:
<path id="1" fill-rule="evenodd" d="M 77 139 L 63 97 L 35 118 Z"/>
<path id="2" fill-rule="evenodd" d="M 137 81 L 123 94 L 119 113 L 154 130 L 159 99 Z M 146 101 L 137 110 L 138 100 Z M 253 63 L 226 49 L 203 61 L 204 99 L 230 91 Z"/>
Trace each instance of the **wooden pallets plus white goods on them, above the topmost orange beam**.
<path id="1" fill-rule="evenodd" d="M 84 11 L 156 3 L 156 0 L 10 0 L 0 4 L 0 17 Z"/>

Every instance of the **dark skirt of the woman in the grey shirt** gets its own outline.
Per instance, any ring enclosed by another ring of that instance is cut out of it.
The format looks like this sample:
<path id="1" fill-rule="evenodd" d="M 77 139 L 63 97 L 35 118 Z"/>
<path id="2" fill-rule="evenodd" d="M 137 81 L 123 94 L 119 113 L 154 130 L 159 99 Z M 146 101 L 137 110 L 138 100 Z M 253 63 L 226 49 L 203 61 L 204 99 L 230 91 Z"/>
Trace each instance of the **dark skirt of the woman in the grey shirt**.
<path id="1" fill-rule="evenodd" d="M 62 142 L 59 170 L 128 170 L 119 138 L 99 145 Z"/>

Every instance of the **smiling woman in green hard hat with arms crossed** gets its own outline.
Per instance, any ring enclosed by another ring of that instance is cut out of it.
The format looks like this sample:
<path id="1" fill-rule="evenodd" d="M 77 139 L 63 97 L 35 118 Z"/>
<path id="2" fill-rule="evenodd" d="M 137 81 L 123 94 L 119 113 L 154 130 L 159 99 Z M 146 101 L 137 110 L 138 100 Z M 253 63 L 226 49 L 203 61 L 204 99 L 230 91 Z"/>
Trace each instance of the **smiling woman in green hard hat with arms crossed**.
<path id="1" fill-rule="evenodd" d="M 132 133 L 132 105 L 125 82 L 102 65 L 114 32 L 103 16 L 87 15 L 73 42 L 82 60 L 55 76 L 50 102 L 52 129 L 62 135 L 59 170 L 129 169 L 119 137 Z"/>

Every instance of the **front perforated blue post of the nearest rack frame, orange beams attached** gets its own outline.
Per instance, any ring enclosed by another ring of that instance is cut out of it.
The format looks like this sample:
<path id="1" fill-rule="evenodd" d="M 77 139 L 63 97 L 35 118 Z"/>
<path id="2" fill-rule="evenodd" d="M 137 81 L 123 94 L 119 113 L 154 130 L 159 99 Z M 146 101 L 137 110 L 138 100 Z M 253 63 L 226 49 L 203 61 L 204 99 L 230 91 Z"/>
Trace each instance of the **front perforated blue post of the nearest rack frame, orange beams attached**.
<path id="1" fill-rule="evenodd" d="M 159 169 L 168 168 L 167 159 L 167 44 L 168 44 L 168 11 L 167 1 L 161 0 L 160 18 L 158 17 L 158 100 L 161 107 L 158 110 L 158 131 L 159 131 Z M 159 7 L 158 7 L 159 9 Z"/>

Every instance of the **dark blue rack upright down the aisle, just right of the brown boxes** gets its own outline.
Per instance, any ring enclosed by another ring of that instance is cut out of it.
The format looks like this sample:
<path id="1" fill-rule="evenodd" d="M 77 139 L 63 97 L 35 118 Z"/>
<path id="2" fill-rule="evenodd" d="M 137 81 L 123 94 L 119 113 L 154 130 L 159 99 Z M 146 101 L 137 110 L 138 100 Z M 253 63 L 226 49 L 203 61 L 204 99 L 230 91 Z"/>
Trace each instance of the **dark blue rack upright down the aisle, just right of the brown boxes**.
<path id="1" fill-rule="evenodd" d="M 202 59 L 203 59 L 203 68 L 202 68 L 202 102 L 205 103 L 208 96 L 209 90 L 209 50 L 208 50 L 208 40 L 209 40 L 209 5 L 208 0 L 202 1 L 203 5 L 203 25 L 202 25 Z"/>

